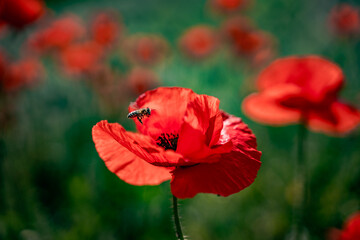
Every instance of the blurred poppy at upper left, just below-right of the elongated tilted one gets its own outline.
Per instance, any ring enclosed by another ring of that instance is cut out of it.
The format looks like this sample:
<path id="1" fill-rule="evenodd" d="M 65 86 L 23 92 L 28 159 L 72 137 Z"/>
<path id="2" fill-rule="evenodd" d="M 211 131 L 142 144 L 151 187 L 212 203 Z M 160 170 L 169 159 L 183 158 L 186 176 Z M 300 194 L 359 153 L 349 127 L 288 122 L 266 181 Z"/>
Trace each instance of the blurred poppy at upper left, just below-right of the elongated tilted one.
<path id="1" fill-rule="evenodd" d="M 70 45 L 60 53 L 64 70 L 70 75 L 91 73 L 103 57 L 103 48 L 94 42 Z"/>

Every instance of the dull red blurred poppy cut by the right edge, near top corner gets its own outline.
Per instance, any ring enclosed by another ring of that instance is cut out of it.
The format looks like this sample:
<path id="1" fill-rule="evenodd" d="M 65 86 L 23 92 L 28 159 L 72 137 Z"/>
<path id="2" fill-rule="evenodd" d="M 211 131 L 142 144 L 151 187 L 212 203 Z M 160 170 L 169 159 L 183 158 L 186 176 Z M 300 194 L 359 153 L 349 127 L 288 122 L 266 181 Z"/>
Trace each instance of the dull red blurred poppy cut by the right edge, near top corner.
<path id="1" fill-rule="evenodd" d="M 330 27 L 339 35 L 351 36 L 360 33 L 360 15 L 357 7 L 343 3 L 330 12 Z"/>

